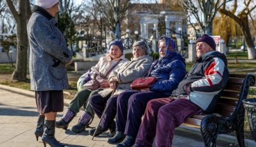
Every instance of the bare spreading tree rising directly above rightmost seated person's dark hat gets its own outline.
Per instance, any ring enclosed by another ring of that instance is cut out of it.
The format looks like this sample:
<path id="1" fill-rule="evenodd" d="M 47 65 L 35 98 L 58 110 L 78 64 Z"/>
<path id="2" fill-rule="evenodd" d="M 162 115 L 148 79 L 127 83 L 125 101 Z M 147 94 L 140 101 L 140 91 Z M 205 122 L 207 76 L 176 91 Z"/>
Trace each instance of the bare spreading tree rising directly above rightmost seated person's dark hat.
<path id="1" fill-rule="evenodd" d="M 231 0 L 180 0 L 182 8 L 188 12 L 190 24 L 195 28 L 192 21 L 195 19 L 200 24 L 204 34 L 212 35 L 212 21 L 217 10 Z"/>

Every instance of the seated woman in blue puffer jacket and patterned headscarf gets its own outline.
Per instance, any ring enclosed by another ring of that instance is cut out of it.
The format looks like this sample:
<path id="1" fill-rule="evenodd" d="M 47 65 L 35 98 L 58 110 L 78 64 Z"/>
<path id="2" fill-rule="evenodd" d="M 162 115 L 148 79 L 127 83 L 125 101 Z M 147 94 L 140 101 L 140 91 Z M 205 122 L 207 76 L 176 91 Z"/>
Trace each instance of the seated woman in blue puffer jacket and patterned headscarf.
<path id="1" fill-rule="evenodd" d="M 113 138 L 108 139 L 108 143 L 122 141 L 118 146 L 132 146 L 148 101 L 169 96 L 184 78 L 185 61 L 177 53 L 174 40 L 161 37 L 158 46 L 160 57 L 154 61 L 147 74 L 157 78 L 157 81 L 146 91 L 127 91 L 118 96 L 117 132 Z"/>

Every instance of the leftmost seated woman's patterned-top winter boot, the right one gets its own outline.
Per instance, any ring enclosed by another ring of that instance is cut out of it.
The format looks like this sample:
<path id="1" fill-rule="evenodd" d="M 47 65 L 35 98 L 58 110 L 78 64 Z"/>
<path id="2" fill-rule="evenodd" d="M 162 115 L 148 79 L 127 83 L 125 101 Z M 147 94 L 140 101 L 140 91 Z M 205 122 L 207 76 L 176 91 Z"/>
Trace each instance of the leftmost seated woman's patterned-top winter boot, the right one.
<path id="1" fill-rule="evenodd" d="M 92 118 L 91 114 L 88 113 L 87 111 L 84 111 L 81 117 L 79 118 L 77 125 L 74 125 L 71 128 L 71 131 L 75 133 L 80 133 L 82 131 L 85 131 L 85 128 L 87 127 L 91 118 Z"/>

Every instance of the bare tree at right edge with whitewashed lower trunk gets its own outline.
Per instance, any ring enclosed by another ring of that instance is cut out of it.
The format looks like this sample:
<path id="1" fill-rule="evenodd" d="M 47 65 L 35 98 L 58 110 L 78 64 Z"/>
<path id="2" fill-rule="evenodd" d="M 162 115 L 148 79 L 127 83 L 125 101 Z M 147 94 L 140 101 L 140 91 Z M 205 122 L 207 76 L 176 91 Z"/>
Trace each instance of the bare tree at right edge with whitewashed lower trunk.
<path id="1" fill-rule="evenodd" d="M 242 9 L 241 11 L 237 10 L 237 7 L 238 7 L 237 0 L 234 1 L 232 10 L 228 10 L 226 5 L 223 5 L 221 9 L 218 9 L 218 11 L 221 12 L 222 14 L 230 16 L 230 18 L 234 19 L 234 21 L 237 22 L 245 38 L 245 44 L 247 46 L 247 51 L 248 51 L 248 59 L 255 59 L 256 54 L 254 50 L 254 42 L 251 37 L 251 31 L 249 28 L 248 19 L 249 18 L 252 19 L 252 23 L 254 26 L 253 28 L 256 29 L 254 24 L 254 19 L 251 14 L 251 12 L 256 8 L 256 5 L 255 5 L 255 2 L 251 0 L 244 1 L 243 4 L 244 4 L 244 9 Z M 237 13 L 237 11 L 239 12 Z"/>

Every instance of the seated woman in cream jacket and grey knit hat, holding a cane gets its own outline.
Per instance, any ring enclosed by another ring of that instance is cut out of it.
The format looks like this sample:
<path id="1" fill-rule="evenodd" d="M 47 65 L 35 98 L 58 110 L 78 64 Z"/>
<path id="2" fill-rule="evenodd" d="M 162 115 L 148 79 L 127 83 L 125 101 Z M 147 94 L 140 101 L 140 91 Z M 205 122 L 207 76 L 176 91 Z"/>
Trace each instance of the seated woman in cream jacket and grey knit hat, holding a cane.
<path id="1" fill-rule="evenodd" d="M 95 135 L 107 131 L 109 126 L 115 126 L 113 119 L 115 112 L 117 112 L 117 97 L 119 93 L 131 89 L 130 85 L 134 79 L 147 74 L 147 71 L 152 65 L 152 56 L 148 55 L 149 52 L 150 49 L 147 42 L 135 42 L 132 46 L 133 58 L 131 58 L 131 62 L 125 63 L 109 75 L 108 81 L 110 88 L 89 98 L 89 104 L 99 118 L 101 118 L 104 109 L 106 109 Z M 89 132 L 90 135 L 94 134 L 95 129 L 91 129 Z M 112 135 L 114 135 L 114 132 L 112 132 Z"/>

